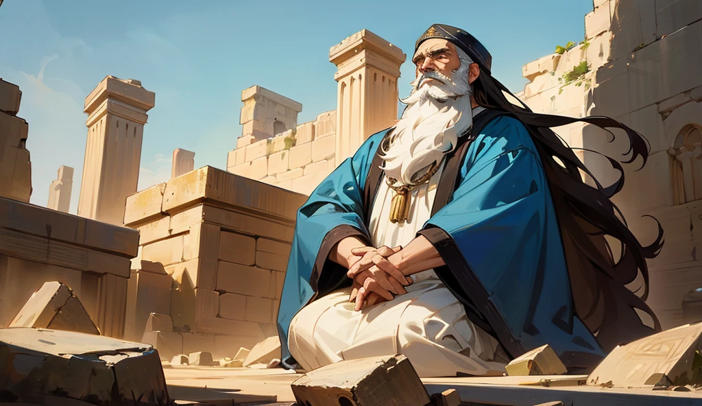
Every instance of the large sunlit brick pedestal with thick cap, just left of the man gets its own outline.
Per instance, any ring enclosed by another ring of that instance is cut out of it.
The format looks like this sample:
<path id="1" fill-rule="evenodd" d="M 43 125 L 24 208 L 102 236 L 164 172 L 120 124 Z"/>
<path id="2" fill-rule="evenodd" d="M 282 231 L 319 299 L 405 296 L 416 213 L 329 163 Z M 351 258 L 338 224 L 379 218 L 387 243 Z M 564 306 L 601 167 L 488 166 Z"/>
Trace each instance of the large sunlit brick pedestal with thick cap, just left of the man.
<path id="1" fill-rule="evenodd" d="M 173 332 L 149 332 L 147 342 L 233 358 L 276 335 L 296 211 L 306 199 L 210 166 L 128 197 L 124 222 L 140 232 L 141 263 L 150 261 L 138 272 L 158 297 L 168 281 L 153 263 L 173 282 L 170 306 L 165 298 L 136 301 L 149 309 L 163 302 L 158 313 L 170 307 Z"/>

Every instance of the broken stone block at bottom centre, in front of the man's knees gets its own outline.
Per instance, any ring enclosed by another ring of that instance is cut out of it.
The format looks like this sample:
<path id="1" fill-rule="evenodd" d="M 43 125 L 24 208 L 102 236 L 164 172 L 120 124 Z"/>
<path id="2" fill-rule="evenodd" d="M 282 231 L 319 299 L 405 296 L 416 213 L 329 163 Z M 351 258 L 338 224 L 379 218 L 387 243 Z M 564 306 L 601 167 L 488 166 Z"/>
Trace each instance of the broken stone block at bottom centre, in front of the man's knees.
<path id="1" fill-rule="evenodd" d="M 425 406 L 429 395 L 404 355 L 340 361 L 291 385 L 300 405 Z"/>

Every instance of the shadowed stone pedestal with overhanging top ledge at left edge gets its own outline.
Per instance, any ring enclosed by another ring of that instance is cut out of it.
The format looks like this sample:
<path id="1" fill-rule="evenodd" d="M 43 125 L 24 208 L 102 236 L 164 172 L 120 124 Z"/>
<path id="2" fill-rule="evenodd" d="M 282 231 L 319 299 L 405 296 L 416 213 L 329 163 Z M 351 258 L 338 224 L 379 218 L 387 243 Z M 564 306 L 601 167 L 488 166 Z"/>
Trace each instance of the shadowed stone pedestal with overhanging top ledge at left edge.
<path id="1" fill-rule="evenodd" d="M 44 282 L 66 284 L 100 332 L 124 332 L 135 230 L 0 197 L 0 327 Z"/>

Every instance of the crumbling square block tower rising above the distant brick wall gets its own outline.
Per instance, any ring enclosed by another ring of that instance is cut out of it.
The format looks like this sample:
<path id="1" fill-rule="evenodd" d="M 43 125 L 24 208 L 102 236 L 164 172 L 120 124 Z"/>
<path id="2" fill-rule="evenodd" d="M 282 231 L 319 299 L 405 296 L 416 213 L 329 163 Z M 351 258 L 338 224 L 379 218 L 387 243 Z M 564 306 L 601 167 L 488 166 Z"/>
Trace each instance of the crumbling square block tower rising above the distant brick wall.
<path id="1" fill-rule="evenodd" d="M 239 124 L 244 126 L 237 148 L 277 136 L 285 131 L 295 129 L 298 125 L 298 112 L 303 105 L 261 86 L 251 86 L 241 92 L 241 117 Z"/>

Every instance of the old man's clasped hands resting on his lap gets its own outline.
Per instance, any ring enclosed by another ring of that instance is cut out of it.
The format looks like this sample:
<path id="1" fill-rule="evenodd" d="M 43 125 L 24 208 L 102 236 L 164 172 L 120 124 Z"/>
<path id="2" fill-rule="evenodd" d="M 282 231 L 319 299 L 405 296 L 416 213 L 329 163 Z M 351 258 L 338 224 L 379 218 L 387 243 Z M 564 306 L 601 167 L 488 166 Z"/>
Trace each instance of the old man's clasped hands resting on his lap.
<path id="1" fill-rule="evenodd" d="M 354 280 L 349 301 L 355 301 L 355 309 L 373 306 L 382 301 L 390 301 L 395 295 L 405 294 L 405 286 L 411 284 L 411 277 L 405 276 L 401 267 L 402 247 L 357 247 L 347 256 L 349 264 L 347 276 Z"/>

